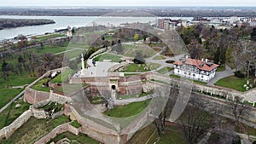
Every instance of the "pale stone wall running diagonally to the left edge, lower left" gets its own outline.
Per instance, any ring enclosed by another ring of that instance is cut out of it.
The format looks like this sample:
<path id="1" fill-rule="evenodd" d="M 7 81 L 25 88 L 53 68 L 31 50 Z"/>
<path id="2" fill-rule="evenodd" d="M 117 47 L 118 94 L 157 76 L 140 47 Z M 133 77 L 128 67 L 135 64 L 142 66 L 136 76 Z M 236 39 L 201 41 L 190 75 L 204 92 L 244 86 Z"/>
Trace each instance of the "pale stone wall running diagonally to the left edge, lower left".
<path id="1" fill-rule="evenodd" d="M 16 118 L 12 124 L 9 124 L 9 126 L 6 126 L 2 130 L 0 130 L 0 139 L 3 139 L 4 137 L 9 138 L 9 136 L 12 135 L 15 132 L 15 130 L 18 130 L 20 126 L 25 124 L 26 121 L 31 117 L 32 117 L 31 110 L 27 110 L 26 112 L 23 112 L 20 115 L 20 117 Z"/>

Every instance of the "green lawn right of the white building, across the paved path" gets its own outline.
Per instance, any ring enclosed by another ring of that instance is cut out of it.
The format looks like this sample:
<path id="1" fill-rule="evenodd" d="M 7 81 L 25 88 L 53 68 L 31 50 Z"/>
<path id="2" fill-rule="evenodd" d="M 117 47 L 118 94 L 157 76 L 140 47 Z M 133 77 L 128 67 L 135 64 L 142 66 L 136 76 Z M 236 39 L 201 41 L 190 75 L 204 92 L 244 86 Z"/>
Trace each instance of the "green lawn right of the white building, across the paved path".
<path id="1" fill-rule="evenodd" d="M 230 89 L 236 89 L 238 91 L 246 91 L 246 89 L 243 87 L 243 85 L 246 83 L 246 78 L 237 78 L 236 76 L 230 76 L 219 79 L 218 82 L 215 83 L 215 85 Z"/>

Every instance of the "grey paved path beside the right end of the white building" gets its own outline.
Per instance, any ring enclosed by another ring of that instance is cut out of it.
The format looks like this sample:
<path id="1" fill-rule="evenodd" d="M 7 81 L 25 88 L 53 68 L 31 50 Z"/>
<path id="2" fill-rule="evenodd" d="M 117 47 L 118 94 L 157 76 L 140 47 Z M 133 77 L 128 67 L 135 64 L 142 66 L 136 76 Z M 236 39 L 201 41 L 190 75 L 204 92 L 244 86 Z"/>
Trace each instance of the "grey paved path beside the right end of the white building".
<path id="1" fill-rule="evenodd" d="M 235 69 L 231 70 L 230 66 L 225 66 L 226 70 L 223 72 L 216 72 L 215 77 L 208 82 L 207 85 L 214 85 L 219 79 L 234 75 Z"/>

